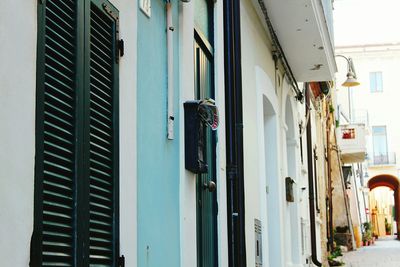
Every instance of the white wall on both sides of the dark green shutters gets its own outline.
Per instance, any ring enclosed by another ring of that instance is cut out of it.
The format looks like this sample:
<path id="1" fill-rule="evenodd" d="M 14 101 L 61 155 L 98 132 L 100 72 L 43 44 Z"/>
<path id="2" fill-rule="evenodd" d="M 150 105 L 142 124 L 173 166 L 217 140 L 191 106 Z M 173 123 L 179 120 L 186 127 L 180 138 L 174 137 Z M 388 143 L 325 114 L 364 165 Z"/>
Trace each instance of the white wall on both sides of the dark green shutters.
<path id="1" fill-rule="evenodd" d="M 136 266 L 136 1 L 120 11 L 120 244 Z M 0 265 L 28 266 L 33 230 L 37 1 L 0 2 Z"/>

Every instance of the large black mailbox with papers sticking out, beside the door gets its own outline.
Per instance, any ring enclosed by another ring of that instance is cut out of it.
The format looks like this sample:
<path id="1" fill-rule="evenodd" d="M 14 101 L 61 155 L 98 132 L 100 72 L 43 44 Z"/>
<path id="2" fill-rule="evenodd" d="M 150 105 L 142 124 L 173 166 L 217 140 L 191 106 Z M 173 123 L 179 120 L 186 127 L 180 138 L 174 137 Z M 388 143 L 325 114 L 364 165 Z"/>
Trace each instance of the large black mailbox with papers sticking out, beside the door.
<path id="1" fill-rule="evenodd" d="M 218 108 L 212 99 L 183 103 L 185 110 L 185 168 L 193 173 L 206 173 L 206 128 L 218 127 Z"/>

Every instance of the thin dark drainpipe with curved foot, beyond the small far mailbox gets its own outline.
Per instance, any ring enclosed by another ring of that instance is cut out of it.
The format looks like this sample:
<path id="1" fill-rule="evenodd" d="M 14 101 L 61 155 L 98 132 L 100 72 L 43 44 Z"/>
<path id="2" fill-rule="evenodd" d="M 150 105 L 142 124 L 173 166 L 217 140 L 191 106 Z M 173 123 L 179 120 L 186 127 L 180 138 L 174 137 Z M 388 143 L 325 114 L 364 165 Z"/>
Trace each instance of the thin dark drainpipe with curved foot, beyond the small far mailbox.
<path id="1" fill-rule="evenodd" d="M 305 84 L 306 91 L 306 115 L 310 112 L 310 90 L 308 84 Z M 308 164 L 308 197 L 310 205 L 310 228 L 311 228 L 311 260 L 312 262 L 320 267 L 322 264 L 317 258 L 317 240 L 315 235 L 315 206 L 314 206 L 314 179 L 313 179 L 313 149 L 311 139 L 311 118 L 307 123 L 307 164 Z M 318 196 L 317 196 L 318 197 Z"/>

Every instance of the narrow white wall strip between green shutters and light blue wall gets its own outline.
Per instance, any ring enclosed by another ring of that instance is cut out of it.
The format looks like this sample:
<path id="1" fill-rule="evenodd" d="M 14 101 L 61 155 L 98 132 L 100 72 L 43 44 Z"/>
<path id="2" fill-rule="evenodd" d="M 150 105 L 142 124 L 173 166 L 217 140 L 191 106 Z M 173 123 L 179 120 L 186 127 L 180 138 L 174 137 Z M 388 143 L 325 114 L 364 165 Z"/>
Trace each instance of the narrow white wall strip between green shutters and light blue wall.
<path id="1" fill-rule="evenodd" d="M 120 38 L 125 54 L 119 66 L 120 108 L 120 253 L 126 266 L 137 266 L 136 190 L 136 81 L 137 4 L 136 0 L 112 0 L 120 12 Z"/>

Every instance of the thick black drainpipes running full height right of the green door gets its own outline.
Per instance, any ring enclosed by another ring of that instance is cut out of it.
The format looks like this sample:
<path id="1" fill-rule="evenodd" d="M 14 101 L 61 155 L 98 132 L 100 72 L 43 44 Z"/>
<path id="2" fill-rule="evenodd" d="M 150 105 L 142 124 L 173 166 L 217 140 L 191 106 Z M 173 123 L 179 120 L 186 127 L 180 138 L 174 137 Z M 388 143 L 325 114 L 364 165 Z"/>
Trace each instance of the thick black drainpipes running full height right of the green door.
<path id="1" fill-rule="evenodd" d="M 246 266 L 240 1 L 224 1 L 228 257 Z"/>

